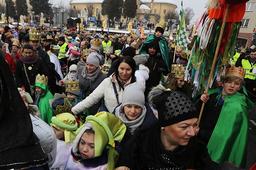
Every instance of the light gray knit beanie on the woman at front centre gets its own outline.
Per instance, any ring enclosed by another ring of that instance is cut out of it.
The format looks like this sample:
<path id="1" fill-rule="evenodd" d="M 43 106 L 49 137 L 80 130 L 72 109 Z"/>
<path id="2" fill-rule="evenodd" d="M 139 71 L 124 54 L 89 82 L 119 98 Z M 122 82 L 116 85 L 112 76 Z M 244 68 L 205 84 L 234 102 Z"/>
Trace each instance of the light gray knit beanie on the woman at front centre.
<path id="1" fill-rule="evenodd" d="M 137 105 L 143 109 L 145 104 L 144 91 L 145 86 L 140 82 L 129 84 L 124 90 L 122 107 L 126 105 Z"/>

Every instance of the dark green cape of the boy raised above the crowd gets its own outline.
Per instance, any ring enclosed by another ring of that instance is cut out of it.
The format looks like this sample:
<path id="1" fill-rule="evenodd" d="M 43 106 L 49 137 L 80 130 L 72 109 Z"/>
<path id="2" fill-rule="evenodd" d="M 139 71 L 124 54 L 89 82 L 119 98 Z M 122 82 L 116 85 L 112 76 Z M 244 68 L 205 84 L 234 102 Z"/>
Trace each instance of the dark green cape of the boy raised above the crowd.
<path id="1" fill-rule="evenodd" d="M 148 37 L 146 39 L 146 41 L 143 44 L 148 44 L 151 41 L 154 40 L 154 35 L 151 35 L 150 37 Z M 159 47 L 163 56 L 163 60 L 165 60 L 165 63 L 168 67 L 168 71 L 170 72 L 170 68 L 169 68 L 169 55 L 168 55 L 168 42 L 166 41 L 166 39 L 161 36 L 161 39 L 159 40 Z M 146 54 L 147 53 L 147 49 L 143 48 L 143 45 L 141 45 L 140 47 L 140 52 L 139 54 Z"/>

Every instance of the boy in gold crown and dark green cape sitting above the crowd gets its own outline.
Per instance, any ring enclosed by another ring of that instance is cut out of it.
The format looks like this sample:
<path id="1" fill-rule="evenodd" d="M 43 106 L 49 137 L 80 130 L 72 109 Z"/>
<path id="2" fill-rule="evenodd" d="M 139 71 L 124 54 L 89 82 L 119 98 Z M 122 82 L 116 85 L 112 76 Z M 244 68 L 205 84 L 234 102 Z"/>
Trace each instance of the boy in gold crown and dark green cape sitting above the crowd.
<path id="1" fill-rule="evenodd" d="M 169 57 L 168 57 L 168 42 L 166 40 L 165 37 L 163 37 L 163 33 L 165 32 L 165 28 L 167 26 L 167 22 L 163 22 L 163 20 L 161 20 L 158 24 L 158 26 L 155 29 L 155 34 L 151 35 L 150 37 L 148 37 L 146 39 L 146 41 L 143 43 L 143 45 L 140 47 L 140 51 L 139 54 L 146 54 L 147 53 L 147 45 L 148 43 L 150 43 L 151 41 L 156 41 L 158 42 L 158 45 L 160 47 L 160 50 L 157 51 L 157 53 L 160 53 L 162 58 L 165 61 L 165 64 L 167 65 L 168 69 L 169 69 Z M 170 71 L 170 70 L 168 70 Z"/>

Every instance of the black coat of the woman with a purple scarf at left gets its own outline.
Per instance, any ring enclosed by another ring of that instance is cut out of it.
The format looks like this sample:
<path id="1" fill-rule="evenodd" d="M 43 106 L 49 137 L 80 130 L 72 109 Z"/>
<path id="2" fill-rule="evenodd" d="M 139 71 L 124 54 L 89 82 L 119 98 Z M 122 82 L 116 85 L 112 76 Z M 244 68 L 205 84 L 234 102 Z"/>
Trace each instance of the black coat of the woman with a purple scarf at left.
<path id="1" fill-rule="evenodd" d="M 15 81 L 17 84 L 17 87 L 25 86 L 25 91 L 30 94 L 30 85 L 33 86 L 35 83 L 35 77 L 40 75 L 48 76 L 47 68 L 41 58 L 38 59 L 37 62 L 34 64 L 25 64 L 26 71 L 28 74 L 28 79 L 30 81 L 30 84 L 28 83 L 25 69 L 23 66 L 23 62 L 19 59 L 15 65 Z M 28 69 L 28 67 L 32 67 L 31 70 Z"/>

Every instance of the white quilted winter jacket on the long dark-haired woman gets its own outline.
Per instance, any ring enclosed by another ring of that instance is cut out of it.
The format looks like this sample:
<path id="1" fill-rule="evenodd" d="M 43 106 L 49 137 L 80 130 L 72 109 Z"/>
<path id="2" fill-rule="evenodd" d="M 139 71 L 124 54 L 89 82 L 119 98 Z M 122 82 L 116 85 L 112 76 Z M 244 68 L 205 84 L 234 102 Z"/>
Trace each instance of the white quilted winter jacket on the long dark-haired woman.
<path id="1" fill-rule="evenodd" d="M 84 110 L 90 108 L 94 104 L 98 103 L 101 98 L 104 97 L 105 106 L 109 109 L 109 111 L 112 113 L 115 109 L 115 107 L 118 105 L 116 100 L 116 95 L 114 92 L 112 81 L 116 84 L 116 90 L 118 93 L 118 101 L 119 103 L 122 102 L 123 98 L 123 89 L 119 90 L 119 84 L 115 78 L 115 73 L 113 73 L 110 77 L 105 78 L 100 85 L 91 93 L 88 97 L 86 97 L 82 102 L 75 105 L 71 111 L 76 115 L 80 112 L 83 112 Z M 131 77 L 127 81 L 127 83 L 124 85 L 124 88 L 127 87 L 130 84 Z"/>

